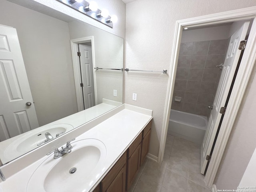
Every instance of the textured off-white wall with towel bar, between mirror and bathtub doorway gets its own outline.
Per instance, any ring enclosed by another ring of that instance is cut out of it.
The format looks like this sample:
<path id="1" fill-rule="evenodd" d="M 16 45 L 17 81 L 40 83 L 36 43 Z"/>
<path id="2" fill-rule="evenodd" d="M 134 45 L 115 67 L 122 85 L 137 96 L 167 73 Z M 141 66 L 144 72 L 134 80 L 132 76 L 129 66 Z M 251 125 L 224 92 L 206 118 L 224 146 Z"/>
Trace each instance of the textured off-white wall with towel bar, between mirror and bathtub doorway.
<path id="1" fill-rule="evenodd" d="M 137 0 L 126 5 L 125 67 L 170 71 L 176 20 L 255 6 L 255 0 Z M 125 73 L 125 103 L 153 110 L 150 153 L 158 156 L 168 75 Z M 137 93 L 137 102 L 132 93 Z M 146 99 L 145 99 L 146 98 Z"/>

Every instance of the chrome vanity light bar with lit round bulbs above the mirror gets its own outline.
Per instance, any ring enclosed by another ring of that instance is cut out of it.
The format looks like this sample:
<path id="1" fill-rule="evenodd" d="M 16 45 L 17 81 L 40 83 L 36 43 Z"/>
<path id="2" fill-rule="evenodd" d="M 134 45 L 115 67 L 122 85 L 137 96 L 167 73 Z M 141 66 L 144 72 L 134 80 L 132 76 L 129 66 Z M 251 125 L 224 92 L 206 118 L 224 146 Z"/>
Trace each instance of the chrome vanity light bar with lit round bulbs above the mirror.
<path id="1" fill-rule="evenodd" d="M 73 8 L 74 10 L 79 11 L 82 14 L 85 14 L 98 22 L 101 22 L 111 28 L 113 28 L 113 23 L 117 22 L 117 16 L 109 16 L 108 10 L 98 9 L 96 2 L 87 2 L 85 0 L 56 0 L 62 2 L 66 6 Z"/>

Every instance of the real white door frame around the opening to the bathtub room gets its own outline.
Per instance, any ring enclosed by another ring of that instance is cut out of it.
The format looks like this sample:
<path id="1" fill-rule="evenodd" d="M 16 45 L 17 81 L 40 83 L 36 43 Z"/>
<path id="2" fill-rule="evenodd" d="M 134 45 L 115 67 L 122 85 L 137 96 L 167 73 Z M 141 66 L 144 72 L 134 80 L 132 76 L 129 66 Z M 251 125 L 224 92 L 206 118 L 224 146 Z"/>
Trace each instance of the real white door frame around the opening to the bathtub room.
<path id="1" fill-rule="evenodd" d="M 211 156 L 211 161 L 209 163 L 208 170 L 204 178 L 206 186 L 210 188 L 212 188 L 214 178 L 218 171 L 220 161 L 226 148 L 232 126 L 236 119 L 236 115 L 246 89 L 246 85 L 248 84 L 252 68 L 256 61 L 256 6 L 176 21 L 176 30 L 174 35 L 170 75 L 168 79 L 166 105 L 164 108 L 164 119 L 158 153 L 158 162 L 162 162 L 164 158 L 164 148 L 172 105 L 172 96 L 174 91 L 174 82 L 178 63 L 182 29 L 185 27 L 207 26 L 210 24 L 235 22 L 252 18 L 254 18 L 254 20 L 252 23 L 252 28 L 250 30 L 249 38 L 247 40 L 246 49 L 244 50 L 240 67 L 236 75 L 236 80 L 234 82 L 233 90 L 228 101 L 225 116 L 222 120 L 221 127 L 226 128 L 220 128 L 220 132 L 218 133 L 218 138 L 216 140 L 214 150 Z"/>

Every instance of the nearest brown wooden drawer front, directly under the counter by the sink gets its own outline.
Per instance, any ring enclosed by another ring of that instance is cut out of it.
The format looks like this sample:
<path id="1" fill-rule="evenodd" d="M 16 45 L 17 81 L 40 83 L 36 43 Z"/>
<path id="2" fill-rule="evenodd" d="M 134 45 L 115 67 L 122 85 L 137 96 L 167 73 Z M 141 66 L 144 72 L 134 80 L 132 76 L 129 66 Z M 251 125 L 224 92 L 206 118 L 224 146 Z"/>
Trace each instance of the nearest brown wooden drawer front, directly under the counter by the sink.
<path id="1" fill-rule="evenodd" d="M 126 164 L 126 152 L 120 157 L 118 162 L 112 167 L 112 169 L 108 172 L 108 174 L 104 177 L 104 179 L 101 182 L 102 186 L 102 192 L 106 191 L 114 178 L 116 178 L 117 174 L 120 172 L 122 167 Z"/>

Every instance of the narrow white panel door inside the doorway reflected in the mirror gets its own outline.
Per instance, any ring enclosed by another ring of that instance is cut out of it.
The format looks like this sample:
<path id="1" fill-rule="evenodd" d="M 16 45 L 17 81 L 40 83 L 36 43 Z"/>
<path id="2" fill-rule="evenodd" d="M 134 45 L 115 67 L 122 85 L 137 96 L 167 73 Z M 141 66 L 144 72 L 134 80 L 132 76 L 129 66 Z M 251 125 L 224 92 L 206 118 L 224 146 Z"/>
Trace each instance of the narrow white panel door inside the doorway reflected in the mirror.
<path id="1" fill-rule="evenodd" d="M 84 109 L 95 106 L 92 47 L 79 44 L 81 76 L 84 94 Z"/>

